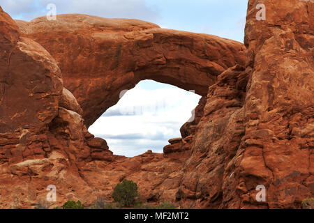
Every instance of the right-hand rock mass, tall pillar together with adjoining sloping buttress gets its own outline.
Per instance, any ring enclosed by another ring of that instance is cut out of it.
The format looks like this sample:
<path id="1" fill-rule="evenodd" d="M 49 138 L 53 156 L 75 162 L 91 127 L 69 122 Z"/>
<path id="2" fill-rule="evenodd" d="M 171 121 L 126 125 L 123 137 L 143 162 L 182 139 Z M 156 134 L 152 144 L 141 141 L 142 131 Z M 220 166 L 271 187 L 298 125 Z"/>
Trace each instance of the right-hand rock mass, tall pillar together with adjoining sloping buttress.
<path id="1" fill-rule="evenodd" d="M 258 21 L 257 3 L 248 1 L 245 72 L 229 69 L 209 87 L 178 191 L 185 205 L 301 208 L 314 195 L 314 4 L 262 1 Z"/>

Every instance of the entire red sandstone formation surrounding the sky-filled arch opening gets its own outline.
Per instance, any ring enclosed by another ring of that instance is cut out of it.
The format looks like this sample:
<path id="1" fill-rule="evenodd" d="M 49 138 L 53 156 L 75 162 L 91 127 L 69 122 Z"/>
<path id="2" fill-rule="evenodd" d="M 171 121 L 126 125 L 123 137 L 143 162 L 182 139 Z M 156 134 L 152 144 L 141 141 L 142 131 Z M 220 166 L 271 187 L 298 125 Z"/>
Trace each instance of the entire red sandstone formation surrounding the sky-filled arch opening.
<path id="1" fill-rule="evenodd" d="M 301 208 L 314 197 L 313 14 L 313 1 L 249 0 L 244 46 L 139 20 L 15 22 L 0 7 L 0 208 L 33 208 L 47 185 L 50 208 L 112 201 L 124 178 L 178 208 Z M 87 128 L 142 79 L 202 98 L 163 153 L 113 155 Z"/>

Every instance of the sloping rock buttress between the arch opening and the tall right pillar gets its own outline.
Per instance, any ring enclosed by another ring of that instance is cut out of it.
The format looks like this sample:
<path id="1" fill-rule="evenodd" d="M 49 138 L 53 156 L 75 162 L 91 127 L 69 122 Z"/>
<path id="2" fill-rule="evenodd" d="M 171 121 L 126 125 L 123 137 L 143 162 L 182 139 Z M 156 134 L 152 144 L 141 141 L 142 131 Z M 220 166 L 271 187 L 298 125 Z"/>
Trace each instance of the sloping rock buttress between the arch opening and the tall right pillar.
<path id="1" fill-rule="evenodd" d="M 225 180 L 233 177 L 230 168 L 245 132 L 242 105 L 247 81 L 244 67 L 234 66 L 209 87 L 204 116 L 197 124 L 192 155 L 177 192 L 181 206 L 222 208 L 224 202 L 232 202 L 233 197 L 224 199 L 227 191 L 223 187 Z"/>

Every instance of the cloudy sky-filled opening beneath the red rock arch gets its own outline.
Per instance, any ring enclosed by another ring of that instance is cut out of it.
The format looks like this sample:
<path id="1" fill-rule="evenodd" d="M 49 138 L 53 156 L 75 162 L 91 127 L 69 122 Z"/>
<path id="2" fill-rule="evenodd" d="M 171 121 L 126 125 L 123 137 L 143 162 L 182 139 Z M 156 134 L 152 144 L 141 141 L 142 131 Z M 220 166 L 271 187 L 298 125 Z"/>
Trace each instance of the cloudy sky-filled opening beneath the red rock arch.
<path id="1" fill-rule="evenodd" d="M 163 153 L 169 139 L 181 137 L 180 128 L 193 118 L 200 98 L 193 89 L 143 80 L 107 109 L 89 132 L 105 139 L 115 155 Z"/>

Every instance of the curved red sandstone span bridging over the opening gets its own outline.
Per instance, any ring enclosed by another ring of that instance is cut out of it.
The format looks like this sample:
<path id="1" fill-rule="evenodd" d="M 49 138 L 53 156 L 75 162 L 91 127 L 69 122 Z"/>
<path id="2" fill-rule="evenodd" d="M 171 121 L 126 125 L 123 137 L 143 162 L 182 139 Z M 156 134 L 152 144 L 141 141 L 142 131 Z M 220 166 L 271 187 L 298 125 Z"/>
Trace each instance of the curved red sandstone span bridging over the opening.
<path id="1" fill-rule="evenodd" d="M 207 95 L 221 72 L 245 63 L 242 43 L 140 20 L 57 15 L 56 21 L 39 17 L 17 24 L 57 60 L 87 127 L 141 80 Z"/>

